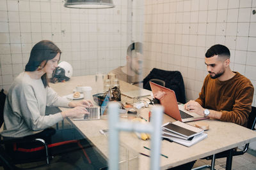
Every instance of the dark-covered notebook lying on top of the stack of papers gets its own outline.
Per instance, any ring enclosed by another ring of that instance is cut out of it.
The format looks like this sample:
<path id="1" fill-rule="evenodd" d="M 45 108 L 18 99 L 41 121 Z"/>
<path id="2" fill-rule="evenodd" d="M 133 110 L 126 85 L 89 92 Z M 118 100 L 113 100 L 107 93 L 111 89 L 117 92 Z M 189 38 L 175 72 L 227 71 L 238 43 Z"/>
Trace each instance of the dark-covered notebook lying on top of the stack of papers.
<path id="1" fill-rule="evenodd" d="M 191 138 L 193 136 L 196 136 L 204 132 L 203 129 L 200 129 L 198 127 L 195 127 L 193 125 L 189 125 L 180 121 L 168 122 L 167 124 L 164 124 L 162 127 L 166 131 L 179 134 L 180 136 L 184 136 L 185 138 Z"/>

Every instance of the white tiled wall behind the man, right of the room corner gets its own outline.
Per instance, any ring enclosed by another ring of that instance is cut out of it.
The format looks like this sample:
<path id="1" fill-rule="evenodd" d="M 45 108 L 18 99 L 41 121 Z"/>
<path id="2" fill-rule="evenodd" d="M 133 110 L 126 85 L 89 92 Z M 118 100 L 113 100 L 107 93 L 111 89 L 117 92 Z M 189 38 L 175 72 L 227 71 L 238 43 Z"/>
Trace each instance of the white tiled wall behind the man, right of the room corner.
<path id="1" fill-rule="evenodd" d="M 205 52 L 220 43 L 230 49 L 231 69 L 244 74 L 256 87 L 256 15 L 252 14 L 256 10 L 255 0 L 144 3 L 145 74 L 153 67 L 179 70 L 186 99 L 196 99 L 207 75 Z"/>

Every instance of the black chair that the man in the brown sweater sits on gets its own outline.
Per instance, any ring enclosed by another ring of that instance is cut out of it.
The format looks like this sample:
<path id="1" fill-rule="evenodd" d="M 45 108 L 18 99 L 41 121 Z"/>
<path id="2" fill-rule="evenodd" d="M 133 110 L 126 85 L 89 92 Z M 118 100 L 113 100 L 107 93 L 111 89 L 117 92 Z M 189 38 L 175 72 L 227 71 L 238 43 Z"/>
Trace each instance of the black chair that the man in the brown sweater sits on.
<path id="1" fill-rule="evenodd" d="M 251 130 L 255 130 L 254 129 L 255 123 L 256 123 L 256 108 L 252 106 L 252 111 L 251 111 L 251 113 L 249 114 L 249 117 L 248 117 L 247 128 L 251 129 Z M 236 148 L 233 148 L 233 149 L 227 150 L 225 152 L 216 153 L 216 154 L 211 155 L 209 157 L 205 157 L 204 159 L 212 160 L 211 165 L 196 167 L 193 170 L 203 169 L 205 167 L 208 167 L 209 169 L 214 169 L 215 159 L 225 158 L 225 157 L 227 157 L 226 169 L 231 169 L 231 167 L 232 167 L 232 157 L 243 155 L 244 153 L 247 152 L 248 148 L 249 148 L 249 143 L 244 145 L 243 150 L 236 150 Z"/>

